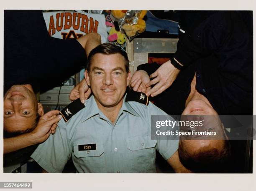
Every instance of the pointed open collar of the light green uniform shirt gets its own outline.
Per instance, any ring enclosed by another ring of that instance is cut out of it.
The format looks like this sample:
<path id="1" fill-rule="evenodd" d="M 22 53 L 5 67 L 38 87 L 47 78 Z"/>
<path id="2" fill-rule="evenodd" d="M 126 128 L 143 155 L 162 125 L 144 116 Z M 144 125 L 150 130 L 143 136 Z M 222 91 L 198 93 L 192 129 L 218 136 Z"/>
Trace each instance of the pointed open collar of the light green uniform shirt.
<path id="1" fill-rule="evenodd" d="M 126 97 L 126 95 L 125 95 L 125 97 Z M 125 97 L 123 98 L 123 105 L 120 109 L 120 112 L 126 111 L 128 113 L 131 113 L 133 116 L 138 117 L 139 116 L 138 113 L 136 113 L 136 111 L 131 107 L 131 105 L 125 101 Z M 87 119 L 91 118 L 92 116 L 99 115 L 100 113 L 102 113 L 102 112 L 98 108 L 95 98 L 92 95 L 88 100 L 85 101 L 84 114 L 83 114 L 81 122 L 86 121 Z"/>

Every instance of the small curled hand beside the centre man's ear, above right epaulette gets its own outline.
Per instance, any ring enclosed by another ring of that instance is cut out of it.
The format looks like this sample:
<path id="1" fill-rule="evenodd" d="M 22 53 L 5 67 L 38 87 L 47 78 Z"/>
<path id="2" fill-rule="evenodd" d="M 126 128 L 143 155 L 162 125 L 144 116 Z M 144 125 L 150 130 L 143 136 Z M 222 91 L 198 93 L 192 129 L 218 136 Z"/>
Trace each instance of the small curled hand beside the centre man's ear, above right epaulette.
<path id="1" fill-rule="evenodd" d="M 150 86 L 146 87 L 146 84 L 149 82 L 150 78 L 148 76 L 148 73 L 146 73 L 144 70 L 138 70 L 133 74 L 130 86 L 131 88 L 133 88 L 133 91 L 146 93 L 148 90 L 151 89 Z"/>

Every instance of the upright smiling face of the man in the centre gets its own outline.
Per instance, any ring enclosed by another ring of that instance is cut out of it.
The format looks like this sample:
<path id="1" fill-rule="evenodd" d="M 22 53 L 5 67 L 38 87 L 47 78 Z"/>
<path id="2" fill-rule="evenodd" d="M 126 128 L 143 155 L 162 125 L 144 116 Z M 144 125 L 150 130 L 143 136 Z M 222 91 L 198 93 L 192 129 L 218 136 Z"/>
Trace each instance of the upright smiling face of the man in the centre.
<path id="1" fill-rule="evenodd" d="M 122 105 L 131 73 L 126 72 L 125 59 L 121 54 L 93 55 L 90 73 L 86 71 L 84 76 L 99 107 Z"/>

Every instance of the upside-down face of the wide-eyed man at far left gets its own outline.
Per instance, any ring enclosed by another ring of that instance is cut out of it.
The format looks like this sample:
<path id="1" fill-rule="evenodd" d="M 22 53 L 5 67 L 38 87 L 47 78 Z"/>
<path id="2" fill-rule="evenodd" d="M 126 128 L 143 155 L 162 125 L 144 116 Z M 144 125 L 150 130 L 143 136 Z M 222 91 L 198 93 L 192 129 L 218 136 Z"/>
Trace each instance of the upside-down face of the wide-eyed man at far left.
<path id="1" fill-rule="evenodd" d="M 43 109 L 29 85 L 13 85 L 4 96 L 4 130 L 8 133 L 26 132 L 33 128 L 37 113 Z"/>

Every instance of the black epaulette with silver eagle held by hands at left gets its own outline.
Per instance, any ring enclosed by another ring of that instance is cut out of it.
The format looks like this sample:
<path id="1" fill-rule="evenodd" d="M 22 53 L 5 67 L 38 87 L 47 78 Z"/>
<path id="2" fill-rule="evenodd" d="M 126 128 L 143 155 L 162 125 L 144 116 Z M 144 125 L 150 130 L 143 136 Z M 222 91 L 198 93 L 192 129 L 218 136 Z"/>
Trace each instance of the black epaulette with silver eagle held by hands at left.
<path id="1" fill-rule="evenodd" d="M 84 104 L 80 101 L 80 98 L 76 99 L 72 103 L 70 103 L 67 107 L 61 110 L 60 114 L 63 117 L 64 121 L 67 123 L 74 114 L 84 108 Z"/>

